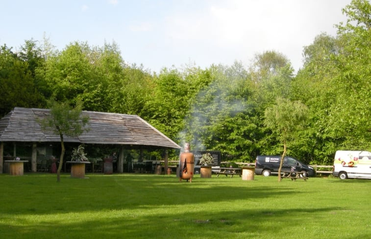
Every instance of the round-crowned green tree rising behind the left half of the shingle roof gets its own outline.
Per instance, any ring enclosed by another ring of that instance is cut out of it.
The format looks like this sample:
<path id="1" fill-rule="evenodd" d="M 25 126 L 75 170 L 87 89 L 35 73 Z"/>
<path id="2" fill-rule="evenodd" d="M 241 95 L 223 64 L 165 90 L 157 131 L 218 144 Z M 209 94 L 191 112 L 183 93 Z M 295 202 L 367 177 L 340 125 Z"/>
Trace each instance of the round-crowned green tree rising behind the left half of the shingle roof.
<path id="1" fill-rule="evenodd" d="M 49 56 L 45 79 L 57 101 L 81 101 L 84 109 L 107 111 L 107 81 L 94 64 L 97 53 L 87 43 L 72 43 Z"/>

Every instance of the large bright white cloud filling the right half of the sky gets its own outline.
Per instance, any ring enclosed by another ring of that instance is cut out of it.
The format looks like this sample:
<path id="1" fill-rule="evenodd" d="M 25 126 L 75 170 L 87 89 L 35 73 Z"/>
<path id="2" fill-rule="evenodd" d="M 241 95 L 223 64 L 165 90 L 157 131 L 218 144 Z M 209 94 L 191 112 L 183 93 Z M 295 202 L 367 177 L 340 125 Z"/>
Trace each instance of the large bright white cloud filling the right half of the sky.
<path id="1" fill-rule="evenodd" d="M 341 9 L 334 8 L 336 0 L 328 1 L 210 1 L 203 11 L 177 11 L 168 16 L 165 34 L 174 49 L 198 61 L 248 64 L 254 54 L 275 50 L 298 69 L 303 46 L 322 32 L 336 32 L 333 24 L 338 23 Z M 184 47 L 191 50 L 179 50 Z M 213 58 L 206 60 L 207 55 Z"/>

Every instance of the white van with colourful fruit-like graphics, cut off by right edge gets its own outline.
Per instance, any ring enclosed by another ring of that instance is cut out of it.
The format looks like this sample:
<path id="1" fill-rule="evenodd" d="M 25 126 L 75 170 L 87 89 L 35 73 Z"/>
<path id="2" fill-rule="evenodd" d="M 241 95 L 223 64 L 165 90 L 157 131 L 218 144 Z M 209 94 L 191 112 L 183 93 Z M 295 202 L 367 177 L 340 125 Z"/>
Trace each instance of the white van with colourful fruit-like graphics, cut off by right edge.
<path id="1" fill-rule="evenodd" d="M 371 179 L 371 152 L 343 151 L 335 153 L 334 176 L 340 179 L 369 178 Z"/>

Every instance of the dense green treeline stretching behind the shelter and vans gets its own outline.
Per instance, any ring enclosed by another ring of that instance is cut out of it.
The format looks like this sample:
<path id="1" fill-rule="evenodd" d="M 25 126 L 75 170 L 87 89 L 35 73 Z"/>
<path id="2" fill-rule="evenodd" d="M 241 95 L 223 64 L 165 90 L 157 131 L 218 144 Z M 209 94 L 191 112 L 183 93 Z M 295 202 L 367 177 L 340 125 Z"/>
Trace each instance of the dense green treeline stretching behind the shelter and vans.
<path id="1" fill-rule="evenodd" d="M 192 150 L 221 151 L 223 160 L 253 161 L 281 154 L 277 135 L 264 125 L 276 99 L 309 109 L 288 155 L 332 164 L 336 150 L 371 150 L 370 2 L 352 0 L 337 36 L 318 35 L 303 47 L 294 75 L 283 54 L 257 54 L 248 68 L 211 65 L 163 68 L 152 73 L 128 65 L 115 43 L 75 42 L 62 51 L 48 39 L 27 40 L 18 51 L 0 46 L 0 115 L 14 107 L 47 108 L 47 100 L 83 102 L 84 110 L 137 114 Z M 177 155 L 173 155 L 177 157 Z"/>

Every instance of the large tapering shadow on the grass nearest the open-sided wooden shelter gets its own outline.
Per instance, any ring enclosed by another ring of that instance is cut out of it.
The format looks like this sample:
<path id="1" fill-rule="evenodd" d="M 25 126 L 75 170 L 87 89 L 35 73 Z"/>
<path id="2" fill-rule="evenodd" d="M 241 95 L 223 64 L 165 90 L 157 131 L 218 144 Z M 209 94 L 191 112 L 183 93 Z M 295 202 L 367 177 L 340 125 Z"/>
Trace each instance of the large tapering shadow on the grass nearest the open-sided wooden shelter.
<path id="1" fill-rule="evenodd" d="M 60 183 L 51 175 L 29 174 L 7 178 L 0 200 L 13 205 L 7 214 L 49 214 L 82 211 L 152 208 L 239 199 L 297 195 L 300 191 L 273 186 L 246 185 L 241 178 L 195 179 L 179 183 L 173 176 L 153 174 L 87 175 L 88 179 L 64 175 Z M 4 181 L 4 180 L 3 180 Z"/>

